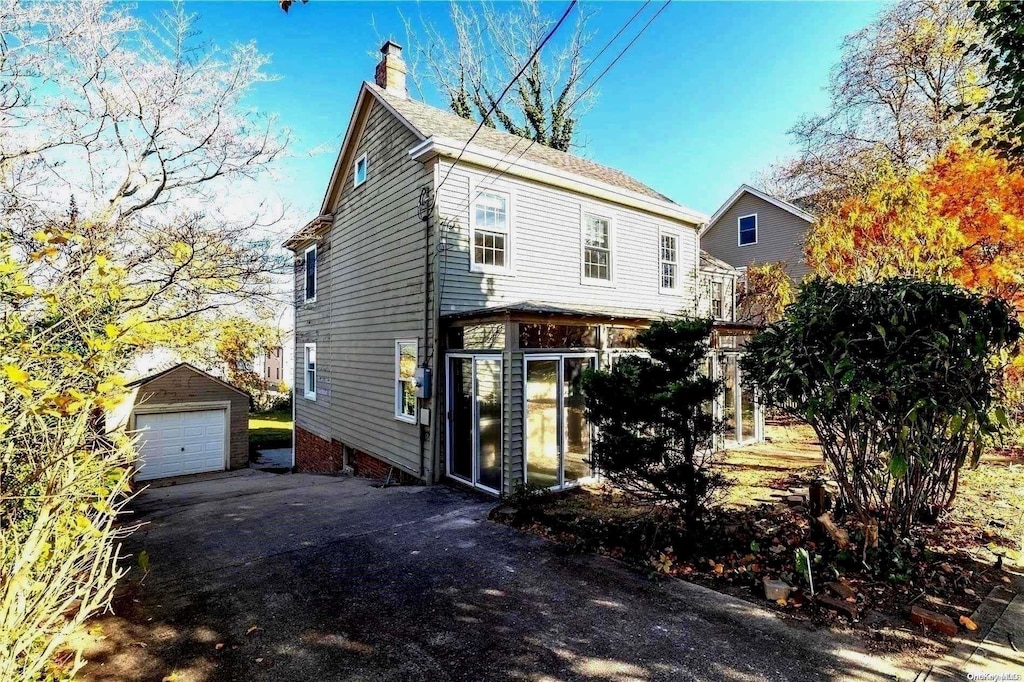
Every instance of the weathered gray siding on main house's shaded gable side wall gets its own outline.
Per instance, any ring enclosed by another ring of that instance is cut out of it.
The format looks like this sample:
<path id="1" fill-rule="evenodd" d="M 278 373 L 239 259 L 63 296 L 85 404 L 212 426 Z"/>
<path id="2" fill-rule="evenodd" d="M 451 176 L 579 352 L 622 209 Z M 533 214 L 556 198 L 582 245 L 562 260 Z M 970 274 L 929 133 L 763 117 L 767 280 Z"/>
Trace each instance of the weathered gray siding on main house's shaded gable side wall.
<path id="1" fill-rule="evenodd" d="M 301 300 L 304 249 L 296 250 L 296 426 L 419 475 L 420 426 L 394 417 L 395 341 L 417 339 L 422 363 L 433 333 L 424 338 L 426 236 L 417 216 L 433 174 L 409 158 L 417 136 L 375 99 L 369 105 L 351 156 L 367 153 L 367 181 L 352 187 L 351 163 L 339 178 L 334 223 L 318 241 L 313 303 Z M 302 395 L 303 348 L 312 342 L 315 400 Z M 428 469 L 430 461 L 428 453 Z"/>

